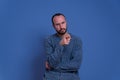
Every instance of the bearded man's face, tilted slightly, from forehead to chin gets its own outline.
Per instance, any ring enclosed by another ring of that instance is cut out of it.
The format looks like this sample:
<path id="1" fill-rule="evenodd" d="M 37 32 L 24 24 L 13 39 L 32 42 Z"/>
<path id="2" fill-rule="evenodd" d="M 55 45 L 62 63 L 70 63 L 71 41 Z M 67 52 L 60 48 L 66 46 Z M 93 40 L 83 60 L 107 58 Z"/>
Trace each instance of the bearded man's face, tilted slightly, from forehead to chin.
<path id="1" fill-rule="evenodd" d="M 59 35 L 63 35 L 66 33 L 67 27 L 66 27 L 66 20 L 64 16 L 62 15 L 55 16 L 53 18 L 53 22 L 54 22 L 53 26 Z"/>

